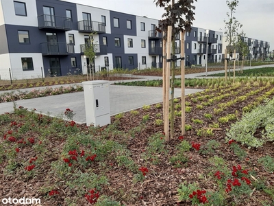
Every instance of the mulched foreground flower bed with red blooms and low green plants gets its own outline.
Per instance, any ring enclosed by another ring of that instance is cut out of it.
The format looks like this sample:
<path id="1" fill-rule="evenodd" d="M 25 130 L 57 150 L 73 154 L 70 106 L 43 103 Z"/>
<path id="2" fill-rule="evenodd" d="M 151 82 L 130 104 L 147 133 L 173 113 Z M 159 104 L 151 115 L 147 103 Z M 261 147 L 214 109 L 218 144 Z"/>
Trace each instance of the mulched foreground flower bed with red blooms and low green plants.
<path id="1" fill-rule="evenodd" d="M 261 97 L 273 99 L 273 84 L 234 84 L 188 95 L 186 135 L 176 116 L 175 138 L 168 142 L 155 122 L 162 113 L 156 104 L 112 117 L 102 128 L 16 106 L 14 113 L 0 115 L 1 196 L 35 196 L 42 205 L 273 205 L 273 141 L 249 149 L 225 139 L 243 108 Z M 227 104 L 235 99 L 237 104 Z M 236 119 L 219 122 L 229 114 Z"/>

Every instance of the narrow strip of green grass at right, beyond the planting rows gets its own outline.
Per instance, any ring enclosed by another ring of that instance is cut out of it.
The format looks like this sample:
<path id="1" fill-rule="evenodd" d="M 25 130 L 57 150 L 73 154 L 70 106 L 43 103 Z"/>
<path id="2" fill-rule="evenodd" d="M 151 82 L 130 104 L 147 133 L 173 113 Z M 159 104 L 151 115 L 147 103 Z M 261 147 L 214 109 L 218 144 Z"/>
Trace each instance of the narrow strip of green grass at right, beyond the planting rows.
<path id="1" fill-rule="evenodd" d="M 225 76 L 225 73 L 215 73 L 208 76 Z M 227 74 L 227 76 L 229 76 L 229 74 Z M 233 76 L 233 71 L 230 72 L 230 76 Z M 274 67 L 247 69 L 244 70 L 243 73 L 236 71 L 235 76 L 274 76 Z"/>

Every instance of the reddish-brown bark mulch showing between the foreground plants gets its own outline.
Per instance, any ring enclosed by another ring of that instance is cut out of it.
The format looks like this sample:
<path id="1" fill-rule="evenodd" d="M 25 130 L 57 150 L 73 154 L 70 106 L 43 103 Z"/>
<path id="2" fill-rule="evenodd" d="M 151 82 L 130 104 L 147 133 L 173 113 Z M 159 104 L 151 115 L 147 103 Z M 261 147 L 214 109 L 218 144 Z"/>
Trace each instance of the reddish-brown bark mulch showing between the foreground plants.
<path id="1" fill-rule="evenodd" d="M 199 136 L 197 135 L 197 130 L 200 128 L 209 128 L 210 124 L 218 122 L 219 117 L 224 117 L 227 114 L 232 114 L 238 111 L 238 118 L 242 115 L 242 108 L 247 106 L 251 102 L 254 102 L 256 98 L 260 97 L 266 91 L 269 91 L 274 86 L 260 91 L 256 95 L 251 95 L 242 102 L 237 102 L 228 108 L 225 108 L 223 112 L 219 114 L 214 113 L 214 108 L 218 108 L 218 104 L 229 102 L 236 98 L 236 96 L 245 95 L 251 90 L 256 90 L 256 87 L 240 87 L 236 89 L 229 88 L 224 89 L 211 89 L 201 94 L 210 95 L 212 97 L 219 96 L 225 93 L 231 93 L 232 91 L 238 92 L 237 95 L 229 95 L 227 98 L 223 98 L 219 102 L 214 102 L 208 106 L 203 106 L 203 109 L 197 109 L 197 104 L 201 102 L 207 102 L 207 99 L 201 100 L 197 103 L 193 102 L 191 98 L 197 98 L 197 95 L 188 95 L 186 97 L 186 102 L 190 102 L 192 106 L 192 111 L 186 113 L 186 124 L 192 126 L 191 130 L 186 131 L 184 139 L 190 144 L 192 142 L 201 144 L 200 151 L 191 148 L 189 152 L 185 155 L 188 157 L 186 163 L 180 163 L 179 167 L 171 164 L 169 159 L 177 154 L 176 146 L 180 144 L 182 140 L 178 139 L 181 135 L 181 118 L 175 117 L 175 130 L 174 138 L 166 141 L 164 150 L 157 155 L 159 161 L 155 163 L 155 159 L 144 159 L 144 154 L 147 152 L 148 148 L 148 137 L 155 135 L 155 133 L 162 133 L 163 126 L 157 126 L 155 124 L 155 119 L 162 119 L 162 108 L 157 108 L 158 106 L 152 105 L 149 110 L 139 108 L 138 114 L 134 115 L 132 112 L 124 113 L 123 117 L 118 119 L 118 116 L 112 117 L 112 124 L 115 130 L 111 130 L 109 137 L 107 139 L 113 139 L 114 141 L 123 142 L 126 148 L 130 152 L 130 157 L 134 160 L 134 163 L 138 167 L 145 166 L 148 168 L 144 181 L 140 181 L 134 184 L 134 172 L 121 166 L 114 159 L 108 159 L 105 161 L 103 166 L 99 161 L 95 161 L 92 165 L 92 172 L 96 174 L 104 174 L 108 177 L 108 185 L 103 185 L 100 194 L 110 196 L 112 200 L 119 201 L 124 205 L 191 205 L 190 201 L 179 201 L 178 197 L 178 187 L 182 183 L 190 184 L 197 183 L 202 190 L 206 191 L 216 191 L 216 178 L 212 175 L 216 172 L 213 163 L 210 163 L 210 158 L 214 156 L 222 157 L 229 169 L 233 165 L 241 165 L 242 168 L 248 169 L 252 172 L 256 179 L 263 181 L 263 183 L 268 187 L 274 187 L 274 174 L 267 172 L 263 165 L 258 163 L 260 157 L 269 155 L 274 157 L 273 142 L 266 143 L 262 148 L 247 148 L 247 146 L 242 146 L 238 143 L 242 150 L 247 152 L 247 156 L 244 159 L 239 159 L 236 154 L 234 154 L 231 146 L 227 144 L 225 140 L 227 129 L 230 128 L 231 124 L 236 122 L 236 120 L 229 121 L 225 124 L 220 124 L 219 130 L 213 130 L 214 135 L 211 137 Z M 274 95 L 271 95 L 273 98 Z M 180 104 L 180 100 L 178 103 Z M 205 113 L 212 114 L 212 118 L 208 119 L 204 117 Z M 147 122 L 143 121 L 143 117 L 149 114 L 149 120 Z M 12 114 L 10 114 L 12 117 Z M 191 119 L 201 119 L 203 124 L 195 124 Z M 25 119 L 22 119 L 22 123 L 26 123 Z M 62 124 L 62 122 L 60 122 Z M 10 122 L 1 125 L 5 130 L 9 128 Z M 86 126 L 80 126 L 82 130 L 86 131 Z M 133 130 L 133 128 L 136 128 Z M 97 137 L 107 133 L 108 127 L 97 128 L 94 133 Z M 0 130 L 1 131 L 1 130 Z M 3 131 L 3 130 L 2 130 Z M 90 130 L 88 130 L 90 132 Z M 115 132 L 118 131 L 118 132 Z M 94 134 L 93 133 L 93 134 Z M 31 135 L 35 135 L 34 133 Z M 162 135 L 164 138 L 164 135 Z M 38 137 L 37 137 L 38 138 Z M 60 194 L 49 198 L 49 190 L 41 190 L 41 187 L 49 185 L 49 183 L 55 183 L 58 179 L 53 179 L 51 177 L 51 163 L 61 159 L 61 152 L 64 147 L 64 139 L 60 140 L 51 134 L 47 137 L 51 144 L 47 145 L 48 156 L 43 160 L 43 163 L 35 168 L 36 172 L 34 176 L 27 177 L 24 172 L 20 170 L 15 170 L 12 174 L 4 175 L 4 168 L 8 164 L 8 159 L 3 159 L 0 168 L 0 199 L 12 196 L 13 198 L 20 198 L 21 196 L 32 196 L 36 198 L 41 198 L 42 205 L 67 205 L 65 198 L 69 198 L 71 201 L 76 200 L 77 197 L 77 187 L 68 187 L 63 182 L 58 182 L 59 188 L 56 189 Z M 220 146 L 209 152 L 208 154 L 203 154 L 202 151 L 206 150 L 206 143 L 210 140 L 216 140 L 219 142 Z M 3 141 L 1 138 L 0 143 Z M 19 152 L 20 158 L 25 161 L 30 157 L 36 157 L 35 150 L 32 148 L 24 148 Z M 20 168 L 18 165 L 17 169 Z M 19 171 L 19 172 L 18 172 Z M 70 179 L 71 174 L 68 174 L 68 179 Z M 251 179 L 251 187 L 256 184 L 256 181 Z M 91 188 L 90 188 L 91 189 Z M 45 192 L 47 191 L 47 192 Z M 241 196 L 240 198 L 234 198 L 233 196 L 226 196 L 226 205 L 262 205 L 262 203 L 273 204 L 273 198 L 267 195 L 262 190 L 255 190 L 251 196 Z M 79 198 L 76 201 L 76 205 L 90 205 L 84 198 Z"/>

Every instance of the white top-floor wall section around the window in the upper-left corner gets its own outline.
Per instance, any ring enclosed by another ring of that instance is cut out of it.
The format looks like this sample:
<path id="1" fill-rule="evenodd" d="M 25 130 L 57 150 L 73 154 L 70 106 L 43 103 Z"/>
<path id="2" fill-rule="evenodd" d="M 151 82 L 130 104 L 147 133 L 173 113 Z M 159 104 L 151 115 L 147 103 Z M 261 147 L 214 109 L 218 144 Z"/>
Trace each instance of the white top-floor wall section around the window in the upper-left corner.
<path id="1" fill-rule="evenodd" d="M 25 25 L 25 26 L 38 26 L 36 0 L 20 0 L 25 2 L 27 9 L 27 16 L 16 16 L 14 10 L 14 2 L 12 0 L 1 0 L 3 18 L 0 14 L 0 25 Z"/>

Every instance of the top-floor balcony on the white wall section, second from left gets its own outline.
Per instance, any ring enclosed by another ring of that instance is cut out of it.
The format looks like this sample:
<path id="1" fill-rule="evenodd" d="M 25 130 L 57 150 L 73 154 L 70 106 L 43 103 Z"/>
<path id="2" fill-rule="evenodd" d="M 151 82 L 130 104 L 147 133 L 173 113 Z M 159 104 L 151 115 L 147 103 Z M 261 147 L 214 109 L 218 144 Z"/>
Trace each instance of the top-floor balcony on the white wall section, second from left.
<path id="1" fill-rule="evenodd" d="M 78 21 L 78 31 L 80 33 L 105 33 L 105 23 L 98 21 L 82 20 Z"/>

